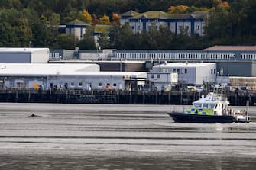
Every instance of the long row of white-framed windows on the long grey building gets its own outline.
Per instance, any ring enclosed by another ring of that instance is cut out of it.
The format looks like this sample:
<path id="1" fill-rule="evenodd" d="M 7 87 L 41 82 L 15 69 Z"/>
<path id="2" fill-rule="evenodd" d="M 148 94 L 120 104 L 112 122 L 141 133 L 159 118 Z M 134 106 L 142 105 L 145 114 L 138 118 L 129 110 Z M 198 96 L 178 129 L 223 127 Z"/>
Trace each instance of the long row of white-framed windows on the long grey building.
<path id="1" fill-rule="evenodd" d="M 231 59 L 234 53 L 116 53 L 118 59 Z"/>

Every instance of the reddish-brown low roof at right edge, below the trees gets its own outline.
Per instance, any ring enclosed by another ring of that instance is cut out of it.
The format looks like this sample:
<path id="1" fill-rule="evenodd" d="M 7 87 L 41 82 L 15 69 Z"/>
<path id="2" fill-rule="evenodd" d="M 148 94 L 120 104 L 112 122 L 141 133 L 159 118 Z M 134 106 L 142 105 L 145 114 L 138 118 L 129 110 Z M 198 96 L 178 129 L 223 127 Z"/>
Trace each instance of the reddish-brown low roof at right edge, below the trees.
<path id="1" fill-rule="evenodd" d="M 256 46 L 213 46 L 204 50 L 209 51 L 256 51 Z"/>

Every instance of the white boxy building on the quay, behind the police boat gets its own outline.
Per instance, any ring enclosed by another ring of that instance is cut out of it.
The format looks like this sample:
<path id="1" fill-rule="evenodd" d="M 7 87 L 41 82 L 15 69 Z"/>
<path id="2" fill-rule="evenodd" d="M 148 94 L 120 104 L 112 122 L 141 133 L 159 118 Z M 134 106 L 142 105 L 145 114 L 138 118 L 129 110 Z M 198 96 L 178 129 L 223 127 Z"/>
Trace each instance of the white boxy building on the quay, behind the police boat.
<path id="1" fill-rule="evenodd" d="M 153 66 L 152 72 L 177 72 L 178 82 L 183 85 L 203 85 L 215 82 L 216 63 L 164 63 Z"/>

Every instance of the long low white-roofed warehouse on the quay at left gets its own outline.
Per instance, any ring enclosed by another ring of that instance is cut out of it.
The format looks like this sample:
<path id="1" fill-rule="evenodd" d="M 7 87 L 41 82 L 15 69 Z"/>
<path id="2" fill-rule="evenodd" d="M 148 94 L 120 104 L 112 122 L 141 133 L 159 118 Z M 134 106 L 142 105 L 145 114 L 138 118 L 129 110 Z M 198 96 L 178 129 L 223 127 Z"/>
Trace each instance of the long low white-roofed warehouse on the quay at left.
<path id="1" fill-rule="evenodd" d="M 0 63 L 2 88 L 131 90 L 146 77 L 146 72 L 99 72 L 97 64 Z"/>

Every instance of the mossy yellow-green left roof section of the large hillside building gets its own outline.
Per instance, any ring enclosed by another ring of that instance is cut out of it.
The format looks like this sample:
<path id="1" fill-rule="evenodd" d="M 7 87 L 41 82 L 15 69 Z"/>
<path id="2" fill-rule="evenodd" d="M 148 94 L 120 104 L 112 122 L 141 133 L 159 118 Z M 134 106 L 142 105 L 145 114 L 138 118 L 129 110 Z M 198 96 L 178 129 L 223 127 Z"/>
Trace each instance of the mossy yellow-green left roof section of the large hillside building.
<path id="1" fill-rule="evenodd" d="M 167 19 L 169 18 L 169 14 L 167 14 L 167 12 L 164 11 L 147 11 L 142 14 L 138 14 L 131 19 L 138 19 L 142 17 L 147 19 Z"/>

